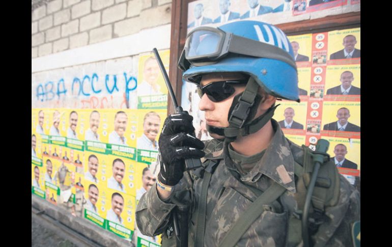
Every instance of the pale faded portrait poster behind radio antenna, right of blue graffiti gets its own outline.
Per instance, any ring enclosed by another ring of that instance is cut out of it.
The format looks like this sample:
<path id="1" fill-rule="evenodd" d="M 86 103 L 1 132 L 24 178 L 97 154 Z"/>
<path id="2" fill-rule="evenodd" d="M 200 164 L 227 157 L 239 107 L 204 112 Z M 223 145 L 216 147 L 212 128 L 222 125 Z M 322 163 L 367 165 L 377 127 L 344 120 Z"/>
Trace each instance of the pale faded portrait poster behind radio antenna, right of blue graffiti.
<path id="1" fill-rule="evenodd" d="M 166 73 L 169 75 L 170 50 L 160 50 L 158 52 Z M 139 56 L 136 92 L 138 109 L 167 108 L 168 90 L 158 62 L 152 52 Z"/>

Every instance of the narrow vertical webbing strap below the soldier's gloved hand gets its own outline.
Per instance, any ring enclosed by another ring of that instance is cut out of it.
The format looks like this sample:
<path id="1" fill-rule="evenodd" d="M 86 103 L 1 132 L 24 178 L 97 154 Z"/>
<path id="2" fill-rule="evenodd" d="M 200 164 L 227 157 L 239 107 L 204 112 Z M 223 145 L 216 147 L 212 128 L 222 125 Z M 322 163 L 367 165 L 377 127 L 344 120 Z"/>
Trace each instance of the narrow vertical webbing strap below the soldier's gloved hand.
<path id="1" fill-rule="evenodd" d="M 207 189 L 210 184 L 212 174 L 204 171 L 204 179 L 202 184 L 202 193 L 199 199 L 199 215 L 196 221 L 196 235 L 194 237 L 194 246 L 201 247 L 204 243 L 204 230 L 206 228 L 206 209 L 207 209 Z"/>

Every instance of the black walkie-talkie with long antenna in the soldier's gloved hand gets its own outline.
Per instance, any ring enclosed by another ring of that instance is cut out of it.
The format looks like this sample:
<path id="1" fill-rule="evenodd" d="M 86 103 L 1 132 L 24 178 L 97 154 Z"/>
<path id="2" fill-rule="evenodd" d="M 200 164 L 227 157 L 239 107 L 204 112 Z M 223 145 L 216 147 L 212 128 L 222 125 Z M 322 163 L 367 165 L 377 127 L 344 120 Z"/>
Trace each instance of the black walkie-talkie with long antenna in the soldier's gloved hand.
<path id="1" fill-rule="evenodd" d="M 176 109 L 176 113 L 181 113 L 181 112 L 183 112 L 183 109 L 181 106 L 179 106 L 177 104 L 177 99 L 176 99 L 176 96 L 174 95 L 172 84 L 170 83 L 169 76 L 167 76 L 166 70 L 165 70 L 163 63 L 162 63 L 162 60 L 160 59 L 158 50 L 156 48 L 154 48 L 152 51 L 154 52 L 155 58 L 158 62 L 159 68 L 162 72 L 163 78 L 166 83 L 167 90 L 169 90 L 169 94 L 170 94 L 170 97 L 172 98 L 172 102 L 173 102 L 174 108 Z M 195 136 L 194 133 L 193 133 L 193 136 Z M 185 170 L 186 171 L 194 170 L 194 169 L 197 169 L 201 166 L 202 166 L 202 162 L 200 161 L 200 159 L 195 159 L 195 158 L 185 159 Z"/>

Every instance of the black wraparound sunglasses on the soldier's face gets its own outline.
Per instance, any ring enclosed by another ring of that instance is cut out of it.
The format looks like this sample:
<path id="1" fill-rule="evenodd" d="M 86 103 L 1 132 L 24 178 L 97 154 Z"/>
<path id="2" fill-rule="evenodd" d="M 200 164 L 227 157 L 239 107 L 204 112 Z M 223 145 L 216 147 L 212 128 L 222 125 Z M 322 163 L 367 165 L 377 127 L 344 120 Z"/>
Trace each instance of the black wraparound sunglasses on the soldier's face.
<path id="1" fill-rule="evenodd" d="M 234 94 L 236 91 L 234 88 L 235 85 L 246 84 L 247 82 L 248 79 L 214 81 L 203 87 L 198 85 L 197 91 L 200 98 L 202 98 L 204 94 L 207 94 L 207 97 L 212 102 L 219 102 Z"/>

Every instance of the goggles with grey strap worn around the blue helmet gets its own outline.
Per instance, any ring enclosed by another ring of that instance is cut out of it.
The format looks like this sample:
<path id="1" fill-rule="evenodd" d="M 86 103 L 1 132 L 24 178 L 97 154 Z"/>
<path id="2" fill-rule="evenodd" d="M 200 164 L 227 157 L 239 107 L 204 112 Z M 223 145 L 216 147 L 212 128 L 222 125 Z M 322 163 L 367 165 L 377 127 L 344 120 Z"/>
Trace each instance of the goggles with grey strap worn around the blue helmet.
<path id="1" fill-rule="evenodd" d="M 276 59 L 297 68 L 294 59 L 282 48 L 209 26 L 195 28 L 186 36 L 178 67 L 185 71 L 190 65 L 216 63 L 229 53 Z"/>

